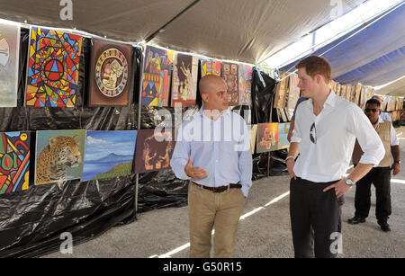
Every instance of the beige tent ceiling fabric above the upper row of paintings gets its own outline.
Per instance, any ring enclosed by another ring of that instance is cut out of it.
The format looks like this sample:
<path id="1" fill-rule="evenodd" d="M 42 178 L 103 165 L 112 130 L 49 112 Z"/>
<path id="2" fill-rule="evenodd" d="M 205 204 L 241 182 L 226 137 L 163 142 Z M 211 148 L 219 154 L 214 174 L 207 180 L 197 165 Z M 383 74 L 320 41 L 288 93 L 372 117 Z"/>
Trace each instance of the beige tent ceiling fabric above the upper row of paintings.
<path id="1" fill-rule="evenodd" d="M 113 40 L 140 42 L 193 2 L 0 0 L 0 18 L 57 28 L 76 27 Z M 365 0 L 343 0 L 341 13 L 362 2 Z M 60 13 L 68 3 L 72 4 L 72 20 L 64 21 Z M 325 0 L 200 0 L 157 33 L 152 42 L 212 58 L 258 64 L 330 22 L 337 8 Z"/>

